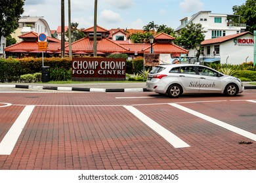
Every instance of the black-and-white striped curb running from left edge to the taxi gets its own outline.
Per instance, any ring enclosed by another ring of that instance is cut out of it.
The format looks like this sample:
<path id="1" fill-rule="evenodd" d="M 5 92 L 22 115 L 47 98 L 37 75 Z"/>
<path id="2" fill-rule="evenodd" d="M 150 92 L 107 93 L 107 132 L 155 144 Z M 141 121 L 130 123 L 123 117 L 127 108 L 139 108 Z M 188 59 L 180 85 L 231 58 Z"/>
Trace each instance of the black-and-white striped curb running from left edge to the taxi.
<path id="1" fill-rule="evenodd" d="M 75 88 L 75 87 L 57 87 L 57 86 L 29 86 L 29 85 L 0 85 L 0 88 L 23 88 L 34 90 L 58 90 L 58 91 L 80 91 L 80 92 L 149 92 L 146 88 Z"/>

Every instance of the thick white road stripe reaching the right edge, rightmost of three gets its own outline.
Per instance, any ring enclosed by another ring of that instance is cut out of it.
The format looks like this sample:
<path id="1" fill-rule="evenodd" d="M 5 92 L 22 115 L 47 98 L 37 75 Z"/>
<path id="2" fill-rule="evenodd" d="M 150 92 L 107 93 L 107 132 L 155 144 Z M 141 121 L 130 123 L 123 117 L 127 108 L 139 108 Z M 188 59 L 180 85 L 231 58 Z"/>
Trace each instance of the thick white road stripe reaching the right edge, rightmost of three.
<path id="1" fill-rule="evenodd" d="M 238 133 L 239 135 L 247 137 L 248 139 L 256 141 L 256 135 L 251 133 L 251 132 L 249 132 L 249 131 L 245 131 L 244 129 L 240 129 L 240 128 L 235 127 L 235 126 L 230 125 L 230 124 L 226 124 L 224 122 L 221 122 L 220 120 L 217 120 L 215 118 L 211 118 L 210 116 L 207 116 L 205 114 L 197 112 L 196 110 L 192 110 L 190 108 L 183 107 L 183 106 L 181 106 L 179 104 L 176 104 L 176 103 L 170 103 L 169 105 L 171 105 L 173 107 L 176 107 L 176 108 L 179 108 L 179 109 L 183 110 L 184 112 L 188 112 L 188 113 L 190 113 L 190 114 L 192 114 L 194 116 L 197 116 L 198 118 L 202 118 L 203 120 L 211 122 L 212 124 L 224 127 L 225 129 L 233 131 L 234 133 Z"/>

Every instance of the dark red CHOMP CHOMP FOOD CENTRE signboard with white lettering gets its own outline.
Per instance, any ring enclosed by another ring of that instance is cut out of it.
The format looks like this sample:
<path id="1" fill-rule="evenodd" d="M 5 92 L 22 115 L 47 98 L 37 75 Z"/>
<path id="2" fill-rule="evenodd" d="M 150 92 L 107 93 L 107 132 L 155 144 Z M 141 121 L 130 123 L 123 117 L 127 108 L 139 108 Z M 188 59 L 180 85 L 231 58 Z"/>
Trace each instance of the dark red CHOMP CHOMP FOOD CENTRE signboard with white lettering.
<path id="1" fill-rule="evenodd" d="M 125 80 L 125 58 L 72 58 L 72 80 Z"/>

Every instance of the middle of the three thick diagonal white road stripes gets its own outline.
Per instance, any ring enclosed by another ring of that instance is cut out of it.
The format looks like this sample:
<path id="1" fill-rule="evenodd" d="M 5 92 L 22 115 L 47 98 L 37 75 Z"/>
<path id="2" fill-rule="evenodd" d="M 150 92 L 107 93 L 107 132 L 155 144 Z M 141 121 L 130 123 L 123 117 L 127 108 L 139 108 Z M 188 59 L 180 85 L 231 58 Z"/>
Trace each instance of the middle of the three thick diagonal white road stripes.
<path id="1" fill-rule="evenodd" d="M 125 107 L 127 110 L 129 110 L 129 112 L 131 112 L 133 115 L 139 118 L 139 120 L 141 120 L 144 124 L 148 125 L 151 129 L 156 131 L 156 133 L 161 135 L 163 139 L 168 141 L 175 148 L 190 147 L 186 142 L 182 141 L 181 139 L 179 139 L 179 137 L 177 137 L 176 135 L 174 135 L 173 133 L 171 133 L 164 127 L 162 127 L 160 124 L 158 124 L 157 122 L 155 122 L 154 120 L 152 120 L 151 118 L 149 118 L 148 116 L 140 112 L 137 108 L 131 105 L 123 106 L 123 107 Z"/>

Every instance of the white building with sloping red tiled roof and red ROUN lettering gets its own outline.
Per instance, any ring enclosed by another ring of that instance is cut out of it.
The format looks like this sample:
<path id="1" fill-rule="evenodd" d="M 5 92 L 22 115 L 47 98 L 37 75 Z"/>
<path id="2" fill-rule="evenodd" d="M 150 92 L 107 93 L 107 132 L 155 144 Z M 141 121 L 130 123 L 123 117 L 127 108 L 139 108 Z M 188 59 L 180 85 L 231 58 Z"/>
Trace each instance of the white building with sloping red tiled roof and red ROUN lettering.
<path id="1" fill-rule="evenodd" d="M 232 65 L 253 61 L 253 43 L 253 34 L 249 32 L 207 39 L 201 44 L 200 60 Z"/>

